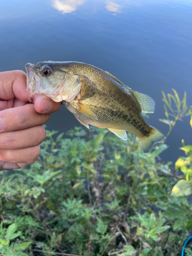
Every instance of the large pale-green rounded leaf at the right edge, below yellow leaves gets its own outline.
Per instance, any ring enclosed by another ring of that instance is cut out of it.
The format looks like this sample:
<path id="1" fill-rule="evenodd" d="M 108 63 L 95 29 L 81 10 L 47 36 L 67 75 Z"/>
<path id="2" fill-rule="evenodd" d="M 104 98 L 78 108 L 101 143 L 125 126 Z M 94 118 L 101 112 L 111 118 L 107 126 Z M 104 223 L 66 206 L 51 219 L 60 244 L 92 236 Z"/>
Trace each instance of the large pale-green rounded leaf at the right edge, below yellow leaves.
<path id="1" fill-rule="evenodd" d="M 189 196 L 192 193 L 192 185 L 186 180 L 179 180 L 172 188 L 170 196 L 173 197 L 184 197 Z"/>

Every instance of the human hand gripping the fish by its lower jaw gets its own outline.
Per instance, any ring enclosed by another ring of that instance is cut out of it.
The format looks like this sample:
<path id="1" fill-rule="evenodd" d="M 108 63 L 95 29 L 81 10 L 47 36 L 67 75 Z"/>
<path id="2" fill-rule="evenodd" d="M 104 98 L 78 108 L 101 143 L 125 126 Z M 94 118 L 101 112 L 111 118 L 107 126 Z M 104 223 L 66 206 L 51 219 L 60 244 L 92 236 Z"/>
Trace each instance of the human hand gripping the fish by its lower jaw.
<path id="1" fill-rule="evenodd" d="M 42 124 L 60 105 L 44 95 L 29 104 L 26 74 L 0 72 L 0 170 L 24 168 L 36 161 L 39 144 L 46 138 Z"/>

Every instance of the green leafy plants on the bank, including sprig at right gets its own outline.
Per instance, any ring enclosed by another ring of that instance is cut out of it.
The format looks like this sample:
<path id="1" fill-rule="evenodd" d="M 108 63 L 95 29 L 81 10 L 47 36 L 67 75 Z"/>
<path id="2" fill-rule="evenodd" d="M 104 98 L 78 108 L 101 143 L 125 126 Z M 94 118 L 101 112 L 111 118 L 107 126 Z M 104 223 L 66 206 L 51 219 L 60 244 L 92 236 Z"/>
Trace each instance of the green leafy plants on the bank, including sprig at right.
<path id="1" fill-rule="evenodd" d="M 176 91 L 163 100 L 169 134 L 191 108 Z M 182 142 L 173 169 L 163 143 L 144 155 L 132 134 L 56 134 L 47 131 L 33 165 L 0 173 L 0 255 L 180 255 L 192 230 L 192 146 Z"/>

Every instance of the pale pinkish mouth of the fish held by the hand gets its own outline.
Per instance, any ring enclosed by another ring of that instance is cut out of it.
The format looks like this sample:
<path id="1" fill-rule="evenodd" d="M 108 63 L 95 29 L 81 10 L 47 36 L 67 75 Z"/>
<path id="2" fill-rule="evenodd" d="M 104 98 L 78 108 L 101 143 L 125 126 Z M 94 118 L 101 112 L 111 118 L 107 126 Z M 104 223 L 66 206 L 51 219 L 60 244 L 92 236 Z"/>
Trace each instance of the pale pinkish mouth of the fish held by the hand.
<path id="1" fill-rule="evenodd" d="M 39 96 L 38 89 L 40 87 L 40 78 L 35 74 L 33 69 L 34 65 L 27 63 L 26 73 L 27 73 L 27 91 L 29 92 L 28 100 L 34 103 L 35 99 Z"/>

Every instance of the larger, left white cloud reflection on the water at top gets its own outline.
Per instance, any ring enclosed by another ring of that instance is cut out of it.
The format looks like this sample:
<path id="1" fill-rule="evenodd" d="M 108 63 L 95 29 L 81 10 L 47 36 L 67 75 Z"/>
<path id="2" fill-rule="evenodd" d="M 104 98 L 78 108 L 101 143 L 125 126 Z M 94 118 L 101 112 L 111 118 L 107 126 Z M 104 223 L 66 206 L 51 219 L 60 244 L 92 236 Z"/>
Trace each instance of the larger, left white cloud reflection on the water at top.
<path id="1" fill-rule="evenodd" d="M 65 0 L 59 1 L 54 0 L 52 3 L 53 8 L 57 9 L 58 11 L 65 13 L 71 13 L 77 10 L 79 5 L 84 4 L 86 0 Z"/>

